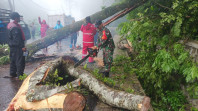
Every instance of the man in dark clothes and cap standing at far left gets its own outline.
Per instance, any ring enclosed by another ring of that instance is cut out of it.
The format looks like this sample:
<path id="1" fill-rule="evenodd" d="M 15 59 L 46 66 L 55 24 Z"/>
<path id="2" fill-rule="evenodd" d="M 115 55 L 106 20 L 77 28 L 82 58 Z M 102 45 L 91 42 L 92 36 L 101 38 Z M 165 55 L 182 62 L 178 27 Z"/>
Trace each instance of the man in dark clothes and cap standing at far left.
<path id="1" fill-rule="evenodd" d="M 23 75 L 25 69 L 25 35 L 20 22 L 20 15 L 12 12 L 10 18 L 14 20 L 7 26 L 9 30 L 8 45 L 10 47 L 10 76 L 19 77 Z"/>

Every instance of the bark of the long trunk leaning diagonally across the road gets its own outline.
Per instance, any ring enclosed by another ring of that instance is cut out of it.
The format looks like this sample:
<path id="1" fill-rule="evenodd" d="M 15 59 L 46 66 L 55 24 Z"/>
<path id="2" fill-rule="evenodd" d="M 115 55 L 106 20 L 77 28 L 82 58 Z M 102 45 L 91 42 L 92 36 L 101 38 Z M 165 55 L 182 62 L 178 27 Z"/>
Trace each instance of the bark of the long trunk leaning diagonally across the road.
<path id="1" fill-rule="evenodd" d="M 104 20 L 126 8 L 133 7 L 133 9 L 135 9 L 141 6 L 142 4 L 144 4 L 146 1 L 147 0 L 129 0 L 123 4 L 110 6 L 100 12 L 91 15 L 90 17 L 92 22 L 94 23 L 97 20 Z M 65 36 L 68 37 L 68 35 L 79 31 L 83 23 L 84 23 L 84 19 L 77 21 L 74 24 L 67 25 L 62 29 L 53 30 L 47 33 L 47 36 L 43 40 L 37 40 L 31 44 L 28 44 L 26 47 L 29 50 L 29 57 L 32 56 L 34 53 L 36 53 L 38 50 L 43 49 L 49 45 L 52 45 L 56 41 L 63 39 Z"/>

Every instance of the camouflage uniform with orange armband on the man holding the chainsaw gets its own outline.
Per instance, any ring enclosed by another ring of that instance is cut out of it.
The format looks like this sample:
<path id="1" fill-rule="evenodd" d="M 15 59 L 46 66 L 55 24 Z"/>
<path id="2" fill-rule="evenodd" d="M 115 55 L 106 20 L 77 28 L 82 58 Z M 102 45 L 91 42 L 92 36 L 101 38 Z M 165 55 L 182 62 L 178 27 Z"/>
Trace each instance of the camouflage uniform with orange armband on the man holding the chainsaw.
<path id="1" fill-rule="evenodd" d="M 98 33 L 98 47 L 103 49 L 103 62 L 105 70 L 110 71 L 113 62 L 113 51 L 115 44 L 112 35 L 106 27 L 103 27 Z"/>

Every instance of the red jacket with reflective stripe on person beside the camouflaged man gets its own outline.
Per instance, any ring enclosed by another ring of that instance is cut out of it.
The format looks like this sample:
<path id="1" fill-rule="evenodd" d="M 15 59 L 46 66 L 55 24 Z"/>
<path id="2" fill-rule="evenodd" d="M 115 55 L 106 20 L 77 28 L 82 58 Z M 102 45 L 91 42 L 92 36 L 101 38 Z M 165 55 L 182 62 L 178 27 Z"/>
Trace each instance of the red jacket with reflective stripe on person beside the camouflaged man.
<path id="1" fill-rule="evenodd" d="M 93 24 L 82 25 L 80 30 L 83 32 L 83 43 L 94 43 L 96 28 Z"/>

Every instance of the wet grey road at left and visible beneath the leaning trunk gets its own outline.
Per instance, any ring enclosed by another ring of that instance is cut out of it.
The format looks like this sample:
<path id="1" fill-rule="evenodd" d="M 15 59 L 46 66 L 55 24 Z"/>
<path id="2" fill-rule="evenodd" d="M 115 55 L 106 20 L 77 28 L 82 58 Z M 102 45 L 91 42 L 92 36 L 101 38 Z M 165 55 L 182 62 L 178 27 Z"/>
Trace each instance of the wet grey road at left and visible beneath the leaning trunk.
<path id="1" fill-rule="evenodd" d="M 81 44 L 82 35 L 78 37 L 77 44 Z M 32 40 L 29 40 L 27 43 L 31 43 Z M 57 55 L 62 56 L 70 52 L 69 50 L 70 38 L 63 39 L 61 41 L 61 48 L 57 49 L 56 44 L 53 44 L 48 47 L 48 55 Z M 42 51 L 38 51 L 36 54 L 42 54 Z M 44 60 L 47 61 L 47 60 Z M 43 63 L 41 61 L 26 63 L 24 73 L 29 75 L 31 74 L 37 67 L 39 67 Z M 22 81 L 17 81 L 11 78 L 3 78 L 9 75 L 9 65 L 0 66 L 0 111 L 4 111 L 12 98 L 17 93 L 20 88 Z"/>

